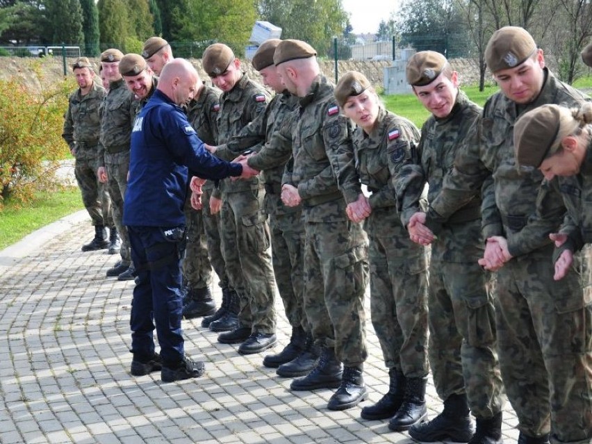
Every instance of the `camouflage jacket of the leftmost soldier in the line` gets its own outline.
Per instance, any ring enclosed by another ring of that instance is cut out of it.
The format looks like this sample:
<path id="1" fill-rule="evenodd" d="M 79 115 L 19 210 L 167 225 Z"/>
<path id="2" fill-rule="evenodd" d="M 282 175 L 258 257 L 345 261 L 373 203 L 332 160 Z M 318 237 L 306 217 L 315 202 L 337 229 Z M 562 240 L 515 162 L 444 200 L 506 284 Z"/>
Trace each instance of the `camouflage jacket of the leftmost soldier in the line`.
<path id="1" fill-rule="evenodd" d="M 79 160 L 99 156 L 99 106 L 104 96 L 105 89 L 93 82 L 88 94 L 82 95 L 79 88 L 72 92 L 68 99 L 62 137 Z"/>

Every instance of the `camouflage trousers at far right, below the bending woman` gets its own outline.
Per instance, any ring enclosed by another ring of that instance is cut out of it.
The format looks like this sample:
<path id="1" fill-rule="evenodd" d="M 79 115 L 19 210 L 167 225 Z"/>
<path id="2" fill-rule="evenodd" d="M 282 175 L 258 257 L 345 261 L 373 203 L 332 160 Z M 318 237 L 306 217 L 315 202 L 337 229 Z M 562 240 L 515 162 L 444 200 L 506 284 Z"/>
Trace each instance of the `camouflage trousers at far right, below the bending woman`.
<path id="1" fill-rule="evenodd" d="M 518 429 L 592 443 L 592 245 L 554 281 L 552 245 L 498 272 L 498 352 Z M 584 288 L 584 290 L 582 290 Z"/>

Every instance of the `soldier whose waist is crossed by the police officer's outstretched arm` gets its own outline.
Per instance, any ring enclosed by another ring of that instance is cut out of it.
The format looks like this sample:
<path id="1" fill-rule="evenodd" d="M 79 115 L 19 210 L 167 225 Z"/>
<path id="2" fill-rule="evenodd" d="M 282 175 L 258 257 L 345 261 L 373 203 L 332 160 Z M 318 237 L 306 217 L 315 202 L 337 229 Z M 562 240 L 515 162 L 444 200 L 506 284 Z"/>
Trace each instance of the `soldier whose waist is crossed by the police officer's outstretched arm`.
<path id="1" fill-rule="evenodd" d="M 265 111 L 269 95 L 240 70 L 240 60 L 225 44 L 215 43 L 206 48 L 203 66 L 213 84 L 222 90 L 217 142 L 225 143 Z M 228 154 L 230 157 L 225 160 L 236 157 L 227 150 L 217 156 L 224 158 Z M 218 197 L 214 193 L 211 199 L 213 213 L 220 205 Z M 220 334 L 218 342 L 241 343 L 240 354 L 263 352 L 277 342 L 264 197 L 265 189 L 258 177 L 248 181 L 227 179 L 222 183 L 222 249 L 231 286 L 240 298 L 240 313 L 236 328 Z"/>

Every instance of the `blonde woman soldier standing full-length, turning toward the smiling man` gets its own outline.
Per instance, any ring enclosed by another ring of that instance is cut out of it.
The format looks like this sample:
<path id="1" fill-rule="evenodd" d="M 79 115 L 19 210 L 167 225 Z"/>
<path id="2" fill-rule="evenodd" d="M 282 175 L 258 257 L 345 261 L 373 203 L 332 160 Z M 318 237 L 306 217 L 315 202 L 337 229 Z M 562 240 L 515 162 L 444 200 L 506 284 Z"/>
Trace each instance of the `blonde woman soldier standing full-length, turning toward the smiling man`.
<path id="1" fill-rule="evenodd" d="M 364 222 L 370 240 L 370 310 L 384 362 L 389 369 L 388 393 L 377 404 L 364 407 L 368 420 L 391 418 L 388 427 L 402 431 L 427 417 L 427 252 L 413 243 L 397 211 L 395 181 L 404 165 L 413 162 L 420 133 L 409 120 L 388 112 L 366 77 L 344 74 L 334 91 L 343 113 L 357 128 L 352 139 L 356 170 L 370 197 Z M 418 190 L 418 195 L 422 190 Z"/>

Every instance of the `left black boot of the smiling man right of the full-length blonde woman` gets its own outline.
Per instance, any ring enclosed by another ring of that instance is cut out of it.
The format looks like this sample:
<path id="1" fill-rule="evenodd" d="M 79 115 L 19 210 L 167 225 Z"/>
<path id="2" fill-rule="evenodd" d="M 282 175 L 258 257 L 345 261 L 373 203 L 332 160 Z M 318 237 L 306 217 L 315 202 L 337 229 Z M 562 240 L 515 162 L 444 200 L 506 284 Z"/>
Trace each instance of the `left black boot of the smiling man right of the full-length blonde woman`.
<path id="1" fill-rule="evenodd" d="M 444 410 L 429 422 L 414 425 L 409 436 L 416 441 L 454 441 L 468 443 L 475 434 L 475 427 L 469 416 L 467 395 L 450 395 L 444 401 Z"/>

